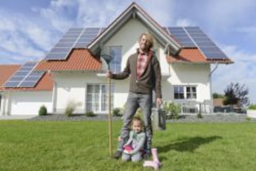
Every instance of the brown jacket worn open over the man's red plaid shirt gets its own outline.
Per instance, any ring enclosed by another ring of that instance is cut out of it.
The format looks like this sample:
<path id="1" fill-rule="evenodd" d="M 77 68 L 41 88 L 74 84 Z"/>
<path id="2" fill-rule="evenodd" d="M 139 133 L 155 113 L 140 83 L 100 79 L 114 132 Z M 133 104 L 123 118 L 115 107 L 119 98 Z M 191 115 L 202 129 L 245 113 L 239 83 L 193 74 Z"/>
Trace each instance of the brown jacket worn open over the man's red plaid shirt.
<path id="1" fill-rule="evenodd" d="M 149 52 L 147 67 L 139 79 L 137 79 L 137 60 L 138 53 L 132 54 L 127 60 L 126 68 L 124 71 L 116 74 L 113 73 L 111 78 L 115 80 L 122 80 L 129 77 L 130 75 L 130 92 L 150 94 L 152 90 L 155 90 L 156 98 L 162 98 L 161 69 L 158 59 L 153 54 L 153 51 Z M 154 73 L 155 77 L 153 76 Z"/>

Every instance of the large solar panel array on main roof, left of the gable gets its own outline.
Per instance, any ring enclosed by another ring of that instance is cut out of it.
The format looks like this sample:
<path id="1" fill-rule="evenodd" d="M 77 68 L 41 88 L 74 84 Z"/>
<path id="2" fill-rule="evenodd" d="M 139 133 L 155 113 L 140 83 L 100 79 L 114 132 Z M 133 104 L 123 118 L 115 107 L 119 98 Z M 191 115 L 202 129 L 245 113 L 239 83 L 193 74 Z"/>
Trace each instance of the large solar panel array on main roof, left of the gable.
<path id="1" fill-rule="evenodd" d="M 105 28 L 70 28 L 45 60 L 65 60 L 73 48 L 87 48 Z"/>

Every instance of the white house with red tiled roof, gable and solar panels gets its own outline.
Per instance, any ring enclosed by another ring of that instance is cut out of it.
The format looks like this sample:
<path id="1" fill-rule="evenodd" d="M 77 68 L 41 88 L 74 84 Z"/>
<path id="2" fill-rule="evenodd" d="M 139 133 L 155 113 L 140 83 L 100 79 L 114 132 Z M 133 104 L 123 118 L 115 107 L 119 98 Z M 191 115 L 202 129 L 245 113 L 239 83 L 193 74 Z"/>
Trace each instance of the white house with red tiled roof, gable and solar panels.
<path id="1" fill-rule="evenodd" d="M 40 62 L 0 65 L 1 115 L 63 113 L 70 103 L 75 113 L 108 113 L 108 69 L 120 72 L 139 47 L 139 36 L 150 32 L 160 61 L 164 101 L 211 112 L 211 64 L 231 64 L 199 27 L 164 27 L 134 2 L 106 28 L 70 28 Z M 2 78 L 4 75 L 4 78 Z M 124 107 L 129 78 L 111 80 L 111 107 Z M 200 105 L 199 105 L 200 104 Z M 189 110 L 187 110 L 189 109 Z M 207 110 L 209 109 L 209 110 Z"/>

